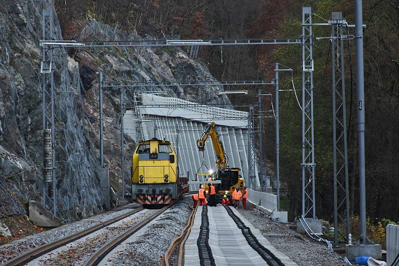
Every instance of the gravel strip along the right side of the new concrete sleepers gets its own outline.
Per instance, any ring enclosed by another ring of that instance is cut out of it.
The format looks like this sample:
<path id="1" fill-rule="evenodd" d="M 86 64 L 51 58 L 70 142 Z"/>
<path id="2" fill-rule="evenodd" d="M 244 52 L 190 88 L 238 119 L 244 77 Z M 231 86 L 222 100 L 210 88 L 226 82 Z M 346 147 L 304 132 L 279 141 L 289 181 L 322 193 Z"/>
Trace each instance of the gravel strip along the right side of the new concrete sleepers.
<path id="1" fill-rule="evenodd" d="M 251 208 L 254 206 L 250 204 Z M 299 266 L 342 266 L 341 256 L 330 251 L 326 245 L 314 242 L 304 235 L 290 230 L 287 225 L 270 220 L 265 213 L 258 209 L 243 210 L 244 216 L 262 235 L 279 251 L 287 255 Z"/>

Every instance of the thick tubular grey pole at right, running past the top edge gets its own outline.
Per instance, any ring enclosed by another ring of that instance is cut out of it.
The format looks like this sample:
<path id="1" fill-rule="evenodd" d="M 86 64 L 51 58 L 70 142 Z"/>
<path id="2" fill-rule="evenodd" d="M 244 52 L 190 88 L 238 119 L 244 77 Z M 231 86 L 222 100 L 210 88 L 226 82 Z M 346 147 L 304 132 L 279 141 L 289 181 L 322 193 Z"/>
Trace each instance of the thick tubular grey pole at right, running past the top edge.
<path id="1" fill-rule="evenodd" d="M 355 0 L 355 38 L 356 38 L 356 94 L 358 95 L 358 138 L 359 138 L 359 194 L 360 227 L 364 240 L 366 231 L 366 166 L 365 166 L 365 87 L 363 65 L 363 11 L 362 0 Z"/>

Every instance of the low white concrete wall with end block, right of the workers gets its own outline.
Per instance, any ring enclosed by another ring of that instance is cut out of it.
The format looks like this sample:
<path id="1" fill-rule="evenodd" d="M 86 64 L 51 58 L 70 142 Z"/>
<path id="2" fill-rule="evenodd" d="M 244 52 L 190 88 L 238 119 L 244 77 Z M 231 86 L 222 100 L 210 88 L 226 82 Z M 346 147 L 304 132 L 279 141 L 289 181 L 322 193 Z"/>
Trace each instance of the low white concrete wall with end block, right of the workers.
<path id="1" fill-rule="evenodd" d="M 281 222 L 287 222 L 287 212 L 277 212 L 277 196 L 270 193 L 248 190 L 248 201 L 257 206 L 258 209 L 273 212 L 272 217 L 279 219 Z"/>

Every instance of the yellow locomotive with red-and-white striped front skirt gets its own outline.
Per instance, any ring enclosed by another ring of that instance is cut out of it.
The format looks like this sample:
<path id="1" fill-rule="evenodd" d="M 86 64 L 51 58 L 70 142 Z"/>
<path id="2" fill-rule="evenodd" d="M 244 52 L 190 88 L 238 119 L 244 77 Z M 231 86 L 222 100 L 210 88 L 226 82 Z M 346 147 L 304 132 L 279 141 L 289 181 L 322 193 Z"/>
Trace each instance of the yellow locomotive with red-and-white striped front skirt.
<path id="1" fill-rule="evenodd" d="M 188 190 L 169 141 L 153 138 L 137 144 L 132 155 L 133 200 L 145 206 L 169 204 Z"/>

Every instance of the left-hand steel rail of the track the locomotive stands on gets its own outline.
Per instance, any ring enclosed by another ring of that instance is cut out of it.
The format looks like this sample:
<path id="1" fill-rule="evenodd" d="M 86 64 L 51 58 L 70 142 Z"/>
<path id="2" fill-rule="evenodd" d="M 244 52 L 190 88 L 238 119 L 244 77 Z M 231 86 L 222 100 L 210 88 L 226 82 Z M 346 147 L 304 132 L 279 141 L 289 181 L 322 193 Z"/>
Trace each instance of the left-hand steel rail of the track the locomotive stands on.
<path id="1" fill-rule="evenodd" d="M 103 228 L 105 228 L 105 227 L 107 227 L 107 226 L 109 226 L 109 225 L 111 225 L 113 223 L 116 223 L 116 222 L 118 222 L 118 221 L 120 221 L 122 219 L 125 219 L 125 218 L 127 218 L 127 217 L 129 217 L 129 216 L 131 216 L 133 214 L 136 214 L 136 213 L 142 211 L 143 209 L 144 209 L 143 207 L 139 207 L 139 208 L 137 208 L 135 210 L 132 210 L 130 212 L 127 212 L 127 213 L 125 213 L 123 215 L 117 216 L 117 217 L 112 218 L 112 219 L 110 219 L 108 221 L 105 221 L 105 222 L 102 222 L 102 223 L 97 224 L 95 226 L 89 227 L 89 228 L 87 228 L 87 229 L 85 229 L 83 231 L 77 232 L 76 234 L 73 234 L 73 235 L 67 236 L 65 238 L 56 240 L 54 242 L 48 243 L 48 244 L 43 245 L 41 247 L 38 247 L 38 248 L 36 248 L 34 250 L 22 253 L 21 255 L 19 255 L 19 256 L 15 257 L 15 258 L 5 262 L 4 264 L 2 264 L 2 266 L 25 265 L 25 264 L 33 261 L 34 259 L 37 259 L 37 258 L 41 257 L 44 254 L 47 254 L 47 253 L 49 253 L 49 252 L 51 252 L 51 251 L 53 251 L 55 249 L 58 249 L 60 247 L 65 246 L 65 245 L 67 245 L 67 244 L 69 244 L 69 243 L 71 243 L 73 241 L 76 241 L 76 240 L 78 240 L 80 238 L 83 238 L 83 237 L 85 237 L 87 235 L 90 235 L 93 232 L 96 232 L 96 231 L 98 231 L 100 229 L 103 229 Z"/>

